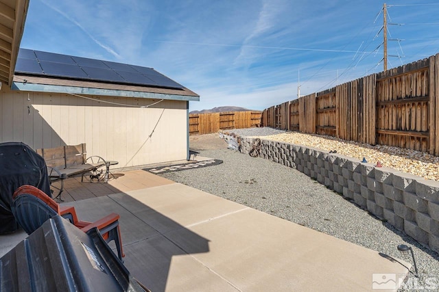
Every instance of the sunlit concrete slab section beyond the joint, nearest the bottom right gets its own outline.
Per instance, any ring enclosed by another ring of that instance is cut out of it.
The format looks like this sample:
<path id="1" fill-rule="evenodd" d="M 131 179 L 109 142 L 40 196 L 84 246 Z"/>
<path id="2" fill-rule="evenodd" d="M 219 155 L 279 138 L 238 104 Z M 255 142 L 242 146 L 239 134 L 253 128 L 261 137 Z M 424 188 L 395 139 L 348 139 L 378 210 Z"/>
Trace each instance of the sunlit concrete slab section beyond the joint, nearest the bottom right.
<path id="1" fill-rule="evenodd" d="M 191 256 L 241 291 L 361 291 L 374 273 L 407 272 L 378 252 L 254 209 L 187 229 L 209 239 L 209 252 Z M 180 232 L 167 237 L 194 250 Z"/>

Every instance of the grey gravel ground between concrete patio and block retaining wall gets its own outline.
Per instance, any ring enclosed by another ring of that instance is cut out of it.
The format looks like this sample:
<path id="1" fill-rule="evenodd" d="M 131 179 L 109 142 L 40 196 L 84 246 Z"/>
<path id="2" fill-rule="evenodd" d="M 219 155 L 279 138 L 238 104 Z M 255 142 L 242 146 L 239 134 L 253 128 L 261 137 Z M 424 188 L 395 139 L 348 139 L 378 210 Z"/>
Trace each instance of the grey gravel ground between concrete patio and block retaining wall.
<path id="1" fill-rule="evenodd" d="M 229 130 L 241 136 L 276 135 L 279 130 L 252 128 Z M 217 138 L 219 139 L 219 137 Z M 198 137 L 198 143 L 202 135 Z M 419 283 L 439 290 L 439 254 L 423 247 L 387 222 L 370 215 L 350 200 L 320 185 L 317 181 L 284 165 L 252 158 L 235 150 L 200 149 L 204 157 L 221 159 L 224 163 L 207 168 L 162 174 L 210 194 L 233 200 L 248 207 L 307 226 L 334 237 L 362 245 L 412 263 L 396 246 L 413 247 L 421 276 Z M 219 179 L 220 178 L 220 179 Z M 377 271 L 379 273 L 379 271 Z M 411 278 L 410 280 L 415 279 Z M 427 282 L 428 284 L 428 282 Z"/>

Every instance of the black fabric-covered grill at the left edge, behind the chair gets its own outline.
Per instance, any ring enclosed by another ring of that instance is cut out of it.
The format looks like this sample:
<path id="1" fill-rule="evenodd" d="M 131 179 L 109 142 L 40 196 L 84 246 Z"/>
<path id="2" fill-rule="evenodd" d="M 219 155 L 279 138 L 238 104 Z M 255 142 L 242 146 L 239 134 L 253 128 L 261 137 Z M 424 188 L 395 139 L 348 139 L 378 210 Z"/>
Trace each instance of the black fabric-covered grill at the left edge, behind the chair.
<path id="1" fill-rule="evenodd" d="M 18 228 L 11 204 L 12 194 L 21 185 L 34 185 L 51 196 L 46 163 L 22 142 L 0 143 L 0 234 Z"/>

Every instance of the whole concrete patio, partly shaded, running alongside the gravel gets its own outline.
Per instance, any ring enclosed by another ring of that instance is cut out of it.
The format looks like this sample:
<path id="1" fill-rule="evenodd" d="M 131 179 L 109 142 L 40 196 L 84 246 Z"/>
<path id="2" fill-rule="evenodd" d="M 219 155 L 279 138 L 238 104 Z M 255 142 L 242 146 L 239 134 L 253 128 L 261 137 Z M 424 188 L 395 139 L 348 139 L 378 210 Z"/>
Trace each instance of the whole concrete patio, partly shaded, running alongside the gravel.
<path id="1" fill-rule="evenodd" d="M 372 274 L 407 274 L 377 251 L 180 183 L 161 183 L 66 203 L 82 220 L 119 213 L 125 265 L 152 291 L 370 291 Z M 21 237 L 14 235 L 16 243 Z"/>

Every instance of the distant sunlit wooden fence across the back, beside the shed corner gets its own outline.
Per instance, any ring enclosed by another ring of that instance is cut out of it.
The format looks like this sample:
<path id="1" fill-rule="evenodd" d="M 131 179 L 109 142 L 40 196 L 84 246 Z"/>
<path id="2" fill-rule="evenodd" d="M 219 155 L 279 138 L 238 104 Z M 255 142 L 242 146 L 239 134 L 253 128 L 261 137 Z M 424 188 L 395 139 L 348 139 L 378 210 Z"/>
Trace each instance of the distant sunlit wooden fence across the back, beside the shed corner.
<path id="1" fill-rule="evenodd" d="M 189 135 L 215 133 L 226 129 L 246 129 L 262 124 L 261 111 L 224 111 L 189 114 Z"/>

